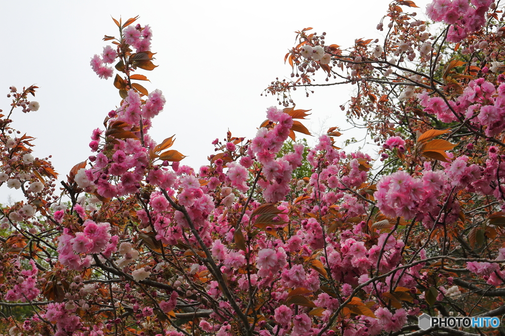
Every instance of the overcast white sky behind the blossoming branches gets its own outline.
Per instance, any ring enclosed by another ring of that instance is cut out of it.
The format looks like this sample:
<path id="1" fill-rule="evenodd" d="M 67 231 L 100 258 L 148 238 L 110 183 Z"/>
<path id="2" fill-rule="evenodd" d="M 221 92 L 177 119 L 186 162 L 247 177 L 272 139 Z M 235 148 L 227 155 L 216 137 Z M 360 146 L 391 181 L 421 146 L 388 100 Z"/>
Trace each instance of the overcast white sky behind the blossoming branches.
<path id="1" fill-rule="evenodd" d="M 428 0 L 416 1 L 421 16 Z M 173 146 L 185 155 L 182 162 L 198 167 L 213 153 L 211 141 L 224 138 L 228 128 L 235 136 L 251 138 L 265 120 L 265 110 L 277 103 L 261 97 L 276 77 L 288 77 L 284 55 L 295 41 L 293 32 L 314 27 L 327 33 L 327 43 L 343 47 L 356 38 L 380 38 L 375 27 L 389 1 L 5 1 L 4 42 L 0 53 L 0 108 L 7 110 L 9 86 L 40 87 L 34 100 L 40 109 L 13 116 L 13 127 L 37 140 L 35 156 L 53 155 L 58 173 L 85 160 L 91 131 L 103 121 L 121 98 L 112 79 L 99 79 L 91 70 L 93 54 L 108 42 L 104 35 L 118 35 L 111 19 L 140 15 L 137 23 L 153 28 L 151 50 L 154 71 L 142 71 L 150 79 L 148 91 L 161 89 L 165 110 L 154 119 L 151 136 L 158 142 L 176 134 Z M 142 83 L 144 84 L 144 83 Z M 339 105 L 348 99 L 350 87 L 317 88 L 305 98 L 294 95 L 297 107 L 312 108 L 305 121 L 313 132 L 331 126 L 346 128 Z M 352 131 L 344 137 L 357 136 Z M 308 139 L 310 143 L 313 140 Z M 0 189 L 0 203 L 11 189 Z"/>

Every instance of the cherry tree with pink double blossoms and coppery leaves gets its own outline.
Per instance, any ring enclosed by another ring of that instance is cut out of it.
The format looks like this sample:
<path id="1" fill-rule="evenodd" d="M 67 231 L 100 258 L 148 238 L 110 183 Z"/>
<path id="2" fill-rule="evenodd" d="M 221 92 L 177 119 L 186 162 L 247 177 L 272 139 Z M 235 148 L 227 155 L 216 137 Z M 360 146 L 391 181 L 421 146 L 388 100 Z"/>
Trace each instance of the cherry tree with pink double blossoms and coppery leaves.
<path id="1" fill-rule="evenodd" d="M 137 18 L 114 20 L 119 37 L 104 38 L 114 46 L 91 60 L 100 78 L 116 71 L 122 100 L 60 192 L 49 158 L 34 156 L 33 138 L 11 124 L 15 108 L 39 108 L 29 96 L 37 87 L 11 87 L 0 185 L 25 199 L 1 211 L 3 332 L 487 332 L 418 330 L 417 316 L 505 312 L 501 11 L 491 0 L 435 0 L 427 13 L 442 24 L 432 35 L 404 12 L 415 7 L 390 5 L 380 44 L 343 50 L 325 33 L 297 32 L 285 58 L 295 80 L 267 88 L 285 108 L 268 108 L 254 139 L 217 138 L 197 169 L 180 163 L 173 136 L 149 136 L 166 100 L 138 82 L 156 66 L 151 29 Z M 311 175 L 293 179 L 304 146 L 281 148 L 310 133 L 290 92 L 309 93 L 321 72 L 321 85 L 356 85 L 342 109 L 365 122 L 383 163 L 335 147 L 341 134 L 331 128 L 307 155 Z M 12 313 L 20 307 L 25 318 Z"/>

